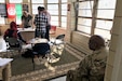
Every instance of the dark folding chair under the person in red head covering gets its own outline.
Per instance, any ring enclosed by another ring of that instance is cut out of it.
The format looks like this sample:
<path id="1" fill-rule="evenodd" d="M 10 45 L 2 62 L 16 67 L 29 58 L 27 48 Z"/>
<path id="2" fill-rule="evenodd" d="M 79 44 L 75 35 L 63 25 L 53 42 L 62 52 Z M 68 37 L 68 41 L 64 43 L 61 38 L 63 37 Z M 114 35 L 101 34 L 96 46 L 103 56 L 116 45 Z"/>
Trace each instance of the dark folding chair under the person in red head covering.
<path id="1" fill-rule="evenodd" d="M 6 38 L 6 55 L 10 57 L 9 53 L 13 53 L 13 51 L 18 51 L 18 53 L 22 52 L 22 43 L 16 38 Z"/>

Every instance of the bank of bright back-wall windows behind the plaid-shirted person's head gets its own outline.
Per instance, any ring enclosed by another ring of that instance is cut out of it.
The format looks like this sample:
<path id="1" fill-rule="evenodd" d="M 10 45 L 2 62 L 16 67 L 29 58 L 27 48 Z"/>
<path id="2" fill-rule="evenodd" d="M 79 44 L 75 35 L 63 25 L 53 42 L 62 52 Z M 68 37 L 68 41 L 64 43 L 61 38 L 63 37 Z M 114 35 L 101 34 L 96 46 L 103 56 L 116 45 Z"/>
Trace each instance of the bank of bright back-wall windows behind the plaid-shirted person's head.
<path id="1" fill-rule="evenodd" d="M 31 0 L 32 14 L 38 14 L 38 6 L 45 6 L 51 14 L 51 25 L 67 27 L 67 0 Z"/>

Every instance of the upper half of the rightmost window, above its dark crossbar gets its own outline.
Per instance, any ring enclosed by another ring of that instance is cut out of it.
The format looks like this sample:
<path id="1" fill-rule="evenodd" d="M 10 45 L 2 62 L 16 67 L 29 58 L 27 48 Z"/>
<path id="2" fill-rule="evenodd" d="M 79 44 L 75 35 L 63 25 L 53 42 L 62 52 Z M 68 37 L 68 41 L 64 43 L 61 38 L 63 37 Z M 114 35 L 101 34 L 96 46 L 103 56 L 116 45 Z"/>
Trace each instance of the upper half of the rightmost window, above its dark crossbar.
<path id="1" fill-rule="evenodd" d="M 99 0 L 97 17 L 112 19 L 114 16 L 116 1 L 117 0 Z"/>

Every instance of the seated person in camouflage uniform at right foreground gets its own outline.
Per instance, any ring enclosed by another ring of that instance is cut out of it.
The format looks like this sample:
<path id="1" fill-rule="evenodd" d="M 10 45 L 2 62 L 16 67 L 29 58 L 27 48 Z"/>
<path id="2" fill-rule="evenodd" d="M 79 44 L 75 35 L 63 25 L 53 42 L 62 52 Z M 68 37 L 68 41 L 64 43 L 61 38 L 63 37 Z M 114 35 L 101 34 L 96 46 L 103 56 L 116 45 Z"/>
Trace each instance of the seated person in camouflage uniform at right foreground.
<path id="1" fill-rule="evenodd" d="M 104 81 L 108 55 L 105 40 L 94 35 L 90 38 L 89 48 L 93 54 L 84 57 L 76 70 L 69 70 L 66 81 Z"/>

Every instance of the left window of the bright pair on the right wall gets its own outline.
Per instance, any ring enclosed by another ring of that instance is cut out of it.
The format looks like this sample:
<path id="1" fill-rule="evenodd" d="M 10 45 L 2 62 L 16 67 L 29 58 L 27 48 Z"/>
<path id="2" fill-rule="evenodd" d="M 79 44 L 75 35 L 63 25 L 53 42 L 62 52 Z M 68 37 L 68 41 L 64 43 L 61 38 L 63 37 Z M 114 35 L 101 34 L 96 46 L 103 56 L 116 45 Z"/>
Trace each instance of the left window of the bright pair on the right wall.
<path id="1" fill-rule="evenodd" d="M 77 30 L 90 35 L 92 27 L 93 1 L 79 2 L 79 8 L 76 8 L 76 10 L 77 9 L 79 9 Z"/>

